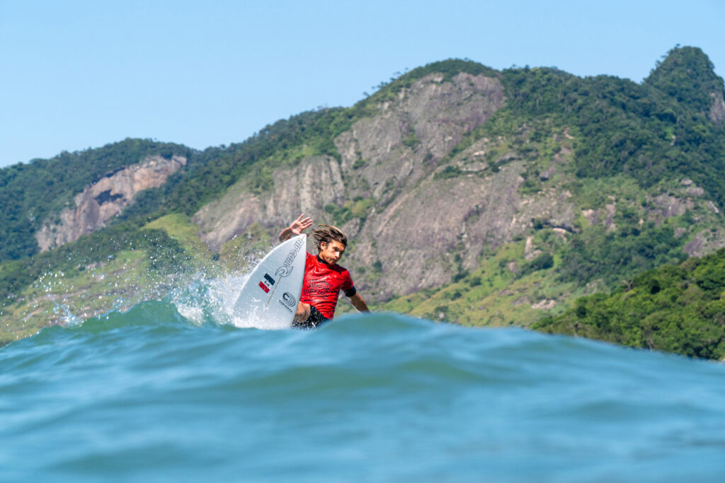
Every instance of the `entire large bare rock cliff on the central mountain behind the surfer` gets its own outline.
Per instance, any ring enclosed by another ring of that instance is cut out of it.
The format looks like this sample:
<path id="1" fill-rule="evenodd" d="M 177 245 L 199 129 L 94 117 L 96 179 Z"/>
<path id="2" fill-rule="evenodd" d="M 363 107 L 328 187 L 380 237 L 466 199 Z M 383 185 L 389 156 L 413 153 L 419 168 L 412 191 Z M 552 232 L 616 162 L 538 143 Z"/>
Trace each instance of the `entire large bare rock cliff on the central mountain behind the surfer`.
<path id="1" fill-rule="evenodd" d="M 439 286 L 450 281 L 451 251 L 464 248 L 460 263 L 470 269 L 484 247 L 525 231 L 532 217 L 549 214 L 560 224 L 573 222 L 566 195 L 547 192 L 540 197 L 547 203 L 520 195 L 525 167 L 514 154 L 504 156 L 505 167 L 495 173 L 475 162 L 495 142 L 482 140 L 454 160 L 468 175 L 436 175 L 439 161 L 504 103 L 502 85 L 492 77 L 461 73 L 447 82 L 443 75 L 424 77 L 335 139 L 341 162 L 312 157 L 281 169 L 273 190 L 263 196 L 240 184 L 204 206 L 194 222 L 216 250 L 254 223 L 273 232 L 300 213 L 331 221 L 326 207 L 368 201 L 365 217 L 342 226 L 355 240 L 346 264 L 390 273 L 367 277 L 368 288 L 380 297 Z"/>

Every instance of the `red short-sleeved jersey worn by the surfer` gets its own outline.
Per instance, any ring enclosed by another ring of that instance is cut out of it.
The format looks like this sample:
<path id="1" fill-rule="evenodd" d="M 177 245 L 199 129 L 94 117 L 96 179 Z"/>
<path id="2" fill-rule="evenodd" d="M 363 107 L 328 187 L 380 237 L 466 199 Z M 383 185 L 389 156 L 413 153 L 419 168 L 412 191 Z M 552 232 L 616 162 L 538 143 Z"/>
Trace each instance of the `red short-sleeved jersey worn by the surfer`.
<path id="1" fill-rule="evenodd" d="M 355 295 L 350 272 L 338 264 L 328 265 L 308 252 L 305 281 L 302 282 L 302 296 L 299 301 L 309 303 L 323 317 L 332 319 L 340 290 L 344 290 L 349 296 Z"/>

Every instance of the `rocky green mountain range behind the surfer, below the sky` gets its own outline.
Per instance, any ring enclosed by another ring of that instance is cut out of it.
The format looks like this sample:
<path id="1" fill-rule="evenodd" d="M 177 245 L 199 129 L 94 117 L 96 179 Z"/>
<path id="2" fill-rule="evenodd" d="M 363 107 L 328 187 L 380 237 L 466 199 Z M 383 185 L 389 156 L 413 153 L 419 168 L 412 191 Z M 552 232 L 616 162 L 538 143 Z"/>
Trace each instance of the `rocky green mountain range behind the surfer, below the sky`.
<path id="1" fill-rule="evenodd" d="M 552 320 L 725 246 L 723 98 L 692 47 L 641 84 L 448 60 L 228 147 L 126 140 L 15 165 L 1 337 L 238 272 L 301 212 L 348 233 L 344 264 L 378 309 Z"/>

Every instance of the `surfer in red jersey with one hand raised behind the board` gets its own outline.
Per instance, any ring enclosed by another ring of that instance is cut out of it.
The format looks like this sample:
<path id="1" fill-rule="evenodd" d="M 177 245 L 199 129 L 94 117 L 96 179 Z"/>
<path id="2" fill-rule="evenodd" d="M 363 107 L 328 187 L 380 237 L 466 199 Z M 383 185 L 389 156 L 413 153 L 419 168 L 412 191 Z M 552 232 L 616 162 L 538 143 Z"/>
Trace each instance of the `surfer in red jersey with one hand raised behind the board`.
<path id="1" fill-rule="evenodd" d="M 292 235 L 302 235 L 311 226 L 312 219 L 301 214 L 280 232 L 279 240 L 289 240 Z M 307 253 L 305 281 L 302 282 L 302 295 L 299 297 L 292 327 L 312 329 L 332 319 L 340 290 L 349 297 L 350 303 L 358 311 L 369 312 L 368 304 L 352 284 L 350 272 L 337 264 L 347 248 L 347 236 L 336 227 L 319 224 L 312 230 L 312 238 L 315 239 L 318 254 L 315 256 Z"/>

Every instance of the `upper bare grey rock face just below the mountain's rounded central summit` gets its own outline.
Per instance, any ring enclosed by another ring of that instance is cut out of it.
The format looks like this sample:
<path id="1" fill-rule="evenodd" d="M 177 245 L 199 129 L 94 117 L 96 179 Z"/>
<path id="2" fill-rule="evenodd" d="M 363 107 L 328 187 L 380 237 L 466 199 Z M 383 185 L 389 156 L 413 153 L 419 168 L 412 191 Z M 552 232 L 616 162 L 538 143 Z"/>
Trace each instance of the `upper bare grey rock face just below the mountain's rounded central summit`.
<path id="1" fill-rule="evenodd" d="M 417 182 L 504 102 L 500 81 L 484 75 L 428 75 L 403 88 L 334 140 L 343 173 L 358 181 L 350 194 L 380 198 Z"/>

